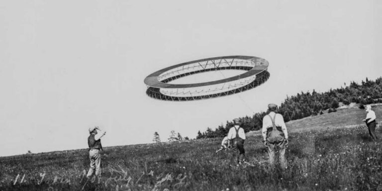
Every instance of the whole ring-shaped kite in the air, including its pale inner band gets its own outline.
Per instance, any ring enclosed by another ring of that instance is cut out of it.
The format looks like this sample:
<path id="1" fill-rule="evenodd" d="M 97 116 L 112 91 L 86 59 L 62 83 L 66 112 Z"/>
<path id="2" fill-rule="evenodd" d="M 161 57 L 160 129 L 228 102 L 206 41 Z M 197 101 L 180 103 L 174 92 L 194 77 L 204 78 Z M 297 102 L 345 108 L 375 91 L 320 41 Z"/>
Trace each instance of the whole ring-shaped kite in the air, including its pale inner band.
<path id="1" fill-rule="evenodd" d="M 200 59 L 170 66 L 154 72 L 144 80 L 146 94 L 150 97 L 187 101 L 232 95 L 253 89 L 270 77 L 268 61 L 253 56 L 224 56 Z M 244 70 L 243 74 L 226 79 L 195 83 L 171 84 L 169 82 L 193 74 L 218 70 Z"/>

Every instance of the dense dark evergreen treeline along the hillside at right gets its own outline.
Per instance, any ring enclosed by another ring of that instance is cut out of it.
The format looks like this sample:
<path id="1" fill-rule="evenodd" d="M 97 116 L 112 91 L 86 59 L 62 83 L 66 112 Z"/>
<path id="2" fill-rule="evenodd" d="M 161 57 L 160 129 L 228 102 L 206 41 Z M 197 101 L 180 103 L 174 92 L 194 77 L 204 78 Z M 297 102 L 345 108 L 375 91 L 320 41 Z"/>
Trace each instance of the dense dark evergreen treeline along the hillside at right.
<path id="1" fill-rule="evenodd" d="M 352 102 L 359 103 L 361 108 L 365 104 L 382 103 L 382 77 L 375 81 L 366 78 L 366 81 L 362 81 L 361 84 L 351 82 L 349 86 L 346 86 L 346 84 L 344 86 L 345 88 L 330 89 L 325 93 L 317 93 L 313 90 L 311 93 L 308 91 L 290 97 L 286 96 L 277 112 L 281 113 L 287 122 L 323 114 L 324 110 L 328 110 L 328 112 L 336 111 L 340 102 L 345 105 Z M 268 111 L 258 112 L 253 116 L 240 117 L 241 127 L 245 132 L 262 128 L 263 117 L 267 114 Z M 215 130 L 208 127 L 205 132 L 198 131 L 196 139 L 224 137 L 232 126 L 233 121 L 226 121 L 225 125 L 221 124 Z"/>

